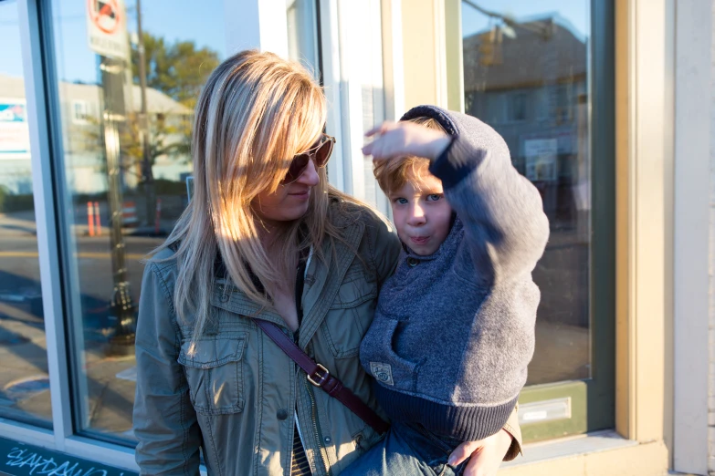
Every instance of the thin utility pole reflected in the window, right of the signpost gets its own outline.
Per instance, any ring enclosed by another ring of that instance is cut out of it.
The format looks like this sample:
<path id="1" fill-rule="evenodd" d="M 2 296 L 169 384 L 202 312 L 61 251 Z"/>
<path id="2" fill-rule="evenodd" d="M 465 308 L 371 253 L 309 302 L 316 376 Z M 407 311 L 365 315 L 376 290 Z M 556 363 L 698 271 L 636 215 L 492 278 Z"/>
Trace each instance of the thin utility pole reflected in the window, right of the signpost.
<path id="1" fill-rule="evenodd" d="M 152 171 L 152 152 L 149 141 L 149 115 L 146 110 L 146 57 L 144 51 L 144 34 L 142 31 L 142 1 L 137 1 L 137 53 L 139 54 L 139 87 L 142 90 L 142 106 L 139 113 L 139 136 L 142 141 L 142 182 L 144 200 L 146 201 L 146 221 L 151 223 L 156 207 L 154 196 L 154 175 Z"/>

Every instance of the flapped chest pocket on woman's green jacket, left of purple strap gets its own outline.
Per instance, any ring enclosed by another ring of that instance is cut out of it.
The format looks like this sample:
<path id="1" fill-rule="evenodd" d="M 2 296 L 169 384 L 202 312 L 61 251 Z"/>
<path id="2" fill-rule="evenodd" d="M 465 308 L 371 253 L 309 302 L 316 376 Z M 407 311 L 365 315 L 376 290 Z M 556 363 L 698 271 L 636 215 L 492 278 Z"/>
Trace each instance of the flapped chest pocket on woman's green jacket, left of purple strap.
<path id="1" fill-rule="evenodd" d="M 243 410 L 243 354 L 246 334 L 216 336 L 181 347 L 178 362 L 184 366 L 191 403 L 198 413 L 225 415 Z"/>

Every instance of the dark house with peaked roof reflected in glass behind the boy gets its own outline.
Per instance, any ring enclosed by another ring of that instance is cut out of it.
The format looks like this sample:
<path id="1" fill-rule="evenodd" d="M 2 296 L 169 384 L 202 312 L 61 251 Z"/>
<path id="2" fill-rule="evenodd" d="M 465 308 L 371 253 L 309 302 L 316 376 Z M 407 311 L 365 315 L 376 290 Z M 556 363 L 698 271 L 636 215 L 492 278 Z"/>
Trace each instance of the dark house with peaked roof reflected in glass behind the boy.
<path id="1" fill-rule="evenodd" d="M 553 189 L 547 212 L 552 185 L 587 180 L 586 70 L 585 38 L 558 16 L 464 38 L 465 111 L 499 131 L 520 172 Z"/>

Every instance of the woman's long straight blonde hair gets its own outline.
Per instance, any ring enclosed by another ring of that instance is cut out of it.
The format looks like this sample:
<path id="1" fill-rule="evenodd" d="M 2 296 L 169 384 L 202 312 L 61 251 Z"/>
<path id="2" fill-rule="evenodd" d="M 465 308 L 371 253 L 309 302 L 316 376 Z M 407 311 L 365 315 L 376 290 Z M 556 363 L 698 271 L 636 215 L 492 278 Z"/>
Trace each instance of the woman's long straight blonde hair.
<path id="1" fill-rule="evenodd" d="M 175 251 L 173 305 L 184 323 L 194 321 L 193 342 L 212 318 L 217 254 L 237 287 L 263 309 L 272 306 L 269 290 L 252 275 L 262 284 L 284 282 L 295 277 L 292 266 L 300 250 L 312 247 L 323 259 L 325 238 L 342 241 L 328 205 L 334 198 L 354 201 L 328 185 L 325 169 L 317 170 L 320 181 L 308 212 L 272 232 L 277 248 L 271 248 L 270 258 L 258 237 L 262 223 L 251 208 L 258 193 L 278 190 L 293 156 L 320 137 L 326 113 L 322 89 L 305 68 L 272 53 L 240 52 L 208 78 L 195 109 L 194 196 L 154 251 Z"/>

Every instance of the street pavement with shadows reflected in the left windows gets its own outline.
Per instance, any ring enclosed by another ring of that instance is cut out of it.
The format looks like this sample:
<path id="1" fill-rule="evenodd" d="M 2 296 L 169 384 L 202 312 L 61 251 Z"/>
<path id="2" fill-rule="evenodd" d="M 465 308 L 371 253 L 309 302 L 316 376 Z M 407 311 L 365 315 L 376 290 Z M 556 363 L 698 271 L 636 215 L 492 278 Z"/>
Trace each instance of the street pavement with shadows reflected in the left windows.
<path id="1" fill-rule="evenodd" d="M 109 346 L 116 322 L 110 316 L 113 291 L 108 237 L 78 233 L 81 309 L 74 319 L 84 337 L 83 373 L 89 395 L 89 429 L 131 437 L 134 399 L 133 347 L 117 352 Z M 132 299 L 138 302 L 143 264 L 140 262 L 163 238 L 126 236 L 127 275 Z M 70 346 L 70 349 L 72 346 Z M 76 347 L 75 347 L 76 348 Z M 79 349 L 78 349 L 79 350 Z M 71 352 L 71 350 L 70 350 Z M 75 351 L 76 352 L 76 351 Z M 0 214 L 0 415 L 51 421 L 47 387 L 47 341 L 42 316 L 37 237 L 31 212 Z"/>

